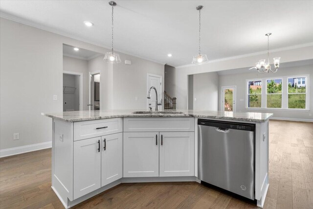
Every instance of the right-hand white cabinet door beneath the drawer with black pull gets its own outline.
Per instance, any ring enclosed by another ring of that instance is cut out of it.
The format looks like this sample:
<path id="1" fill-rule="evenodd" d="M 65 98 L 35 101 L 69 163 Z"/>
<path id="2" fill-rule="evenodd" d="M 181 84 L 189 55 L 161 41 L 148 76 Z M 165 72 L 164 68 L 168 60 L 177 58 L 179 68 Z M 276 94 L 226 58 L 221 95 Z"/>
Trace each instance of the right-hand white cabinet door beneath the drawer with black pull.
<path id="1" fill-rule="evenodd" d="M 123 133 L 101 137 L 101 186 L 123 177 Z"/>

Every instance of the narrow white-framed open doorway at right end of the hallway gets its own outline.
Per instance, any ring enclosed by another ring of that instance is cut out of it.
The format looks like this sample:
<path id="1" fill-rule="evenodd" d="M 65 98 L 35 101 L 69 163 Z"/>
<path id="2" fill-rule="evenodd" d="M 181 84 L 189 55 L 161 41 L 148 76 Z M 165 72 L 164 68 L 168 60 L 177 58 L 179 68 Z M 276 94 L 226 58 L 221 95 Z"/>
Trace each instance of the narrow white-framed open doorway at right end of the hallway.
<path id="1" fill-rule="evenodd" d="M 100 110 L 100 71 L 89 72 L 89 110 Z"/>

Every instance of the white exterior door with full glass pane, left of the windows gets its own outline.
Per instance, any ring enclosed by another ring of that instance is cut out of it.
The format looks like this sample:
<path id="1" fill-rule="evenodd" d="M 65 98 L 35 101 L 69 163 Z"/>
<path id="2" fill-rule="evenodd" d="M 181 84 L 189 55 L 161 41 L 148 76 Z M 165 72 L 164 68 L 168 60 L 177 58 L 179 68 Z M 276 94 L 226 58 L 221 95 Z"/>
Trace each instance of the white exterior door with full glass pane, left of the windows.
<path id="1" fill-rule="evenodd" d="M 222 112 L 236 112 L 236 86 L 222 87 Z"/>

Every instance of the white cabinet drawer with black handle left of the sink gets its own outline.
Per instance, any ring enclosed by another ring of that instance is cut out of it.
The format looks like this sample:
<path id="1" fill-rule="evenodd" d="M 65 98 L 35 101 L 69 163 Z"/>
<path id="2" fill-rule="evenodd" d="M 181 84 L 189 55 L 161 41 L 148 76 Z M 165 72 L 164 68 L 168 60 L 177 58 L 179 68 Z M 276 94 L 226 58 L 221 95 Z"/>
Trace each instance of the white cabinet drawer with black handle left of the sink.
<path id="1" fill-rule="evenodd" d="M 74 122 L 74 141 L 123 131 L 122 118 Z"/>

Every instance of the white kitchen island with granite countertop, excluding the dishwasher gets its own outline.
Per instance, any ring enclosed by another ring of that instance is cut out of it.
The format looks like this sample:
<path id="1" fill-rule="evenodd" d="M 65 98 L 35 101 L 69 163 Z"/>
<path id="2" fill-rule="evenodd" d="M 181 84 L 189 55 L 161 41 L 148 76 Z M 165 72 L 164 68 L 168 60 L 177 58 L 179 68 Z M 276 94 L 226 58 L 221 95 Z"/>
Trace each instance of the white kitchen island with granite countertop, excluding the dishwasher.
<path id="1" fill-rule="evenodd" d="M 272 114 L 100 110 L 44 115 L 53 118 L 52 189 L 65 208 L 121 183 L 200 183 L 198 119 L 253 124 L 252 189 L 257 205 L 264 205 Z"/>

